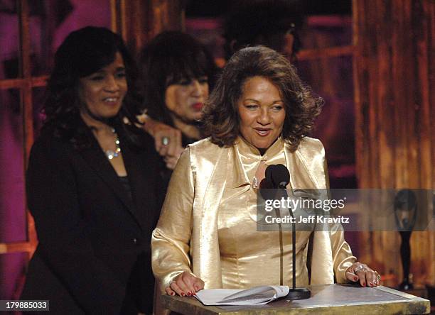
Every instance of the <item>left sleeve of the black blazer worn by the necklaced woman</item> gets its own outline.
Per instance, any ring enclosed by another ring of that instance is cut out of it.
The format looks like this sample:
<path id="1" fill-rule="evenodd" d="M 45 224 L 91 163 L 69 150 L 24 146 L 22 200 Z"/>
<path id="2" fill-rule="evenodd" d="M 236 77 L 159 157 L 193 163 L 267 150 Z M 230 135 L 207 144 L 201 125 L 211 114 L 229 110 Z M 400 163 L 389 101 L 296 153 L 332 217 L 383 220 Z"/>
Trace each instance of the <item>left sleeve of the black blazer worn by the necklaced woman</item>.
<path id="1" fill-rule="evenodd" d="M 38 250 L 87 314 L 119 314 L 125 285 L 95 257 L 68 155 L 61 143 L 50 141 L 37 142 L 31 150 L 26 189 Z"/>

